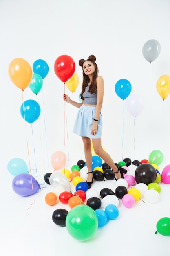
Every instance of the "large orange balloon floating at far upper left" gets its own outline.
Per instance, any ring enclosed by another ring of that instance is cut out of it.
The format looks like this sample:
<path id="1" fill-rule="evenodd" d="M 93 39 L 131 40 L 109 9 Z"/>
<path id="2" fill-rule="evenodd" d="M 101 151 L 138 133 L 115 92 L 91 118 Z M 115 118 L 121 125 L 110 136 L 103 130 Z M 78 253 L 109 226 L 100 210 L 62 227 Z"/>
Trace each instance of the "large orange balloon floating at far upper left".
<path id="1" fill-rule="evenodd" d="M 31 66 L 23 58 L 14 58 L 9 63 L 8 73 L 11 81 L 20 89 L 28 87 L 33 76 Z"/>

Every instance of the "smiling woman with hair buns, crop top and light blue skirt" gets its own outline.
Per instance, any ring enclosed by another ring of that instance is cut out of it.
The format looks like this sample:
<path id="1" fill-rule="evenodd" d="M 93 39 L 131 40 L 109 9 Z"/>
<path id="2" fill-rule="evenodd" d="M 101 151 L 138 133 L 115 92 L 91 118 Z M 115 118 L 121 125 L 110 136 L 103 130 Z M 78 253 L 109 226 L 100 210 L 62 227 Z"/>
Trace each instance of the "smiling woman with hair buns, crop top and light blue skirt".
<path id="1" fill-rule="evenodd" d="M 79 108 L 73 132 L 81 136 L 84 143 L 84 154 L 88 168 L 88 178 L 86 181 L 88 188 L 91 188 L 91 184 L 93 183 L 91 139 L 95 153 L 112 168 L 117 179 L 122 178 L 123 173 L 127 172 L 124 168 L 118 168 L 110 155 L 102 148 L 101 109 L 104 95 L 104 81 L 102 76 L 98 76 L 99 70 L 95 61 L 96 57 L 94 55 L 89 56 L 87 60 L 81 59 L 79 61 L 79 65 L 83 69 L 82 92 L 80 94 L 82 103 L 72 101 L 66 94 L 63 95 L 64 101 Z"/>

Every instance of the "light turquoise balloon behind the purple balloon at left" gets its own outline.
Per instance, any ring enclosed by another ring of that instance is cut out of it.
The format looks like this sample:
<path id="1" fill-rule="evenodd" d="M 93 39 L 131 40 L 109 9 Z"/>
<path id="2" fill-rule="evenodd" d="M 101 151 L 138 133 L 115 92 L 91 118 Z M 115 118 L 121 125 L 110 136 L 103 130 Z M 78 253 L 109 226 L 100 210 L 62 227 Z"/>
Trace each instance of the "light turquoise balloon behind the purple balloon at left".
<path id="1" fill-rule="evenodd" d="M 28 167 L 26 162 L 21 158 L 13 158 L 7 164 L 7 169 L 9 173 L 16 176 L 20 173 L 28 173 Z"/>

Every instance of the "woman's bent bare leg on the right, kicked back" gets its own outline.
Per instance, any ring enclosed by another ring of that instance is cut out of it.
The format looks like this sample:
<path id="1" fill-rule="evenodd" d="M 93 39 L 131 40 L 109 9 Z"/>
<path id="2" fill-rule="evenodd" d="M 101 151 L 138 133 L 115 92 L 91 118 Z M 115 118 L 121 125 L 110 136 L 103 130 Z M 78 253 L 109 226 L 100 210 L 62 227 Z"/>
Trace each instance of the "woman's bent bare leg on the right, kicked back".
<path id="1" fill-rule="evenodd" d="M 95 153 L 101 157 L 104 162 L 106 162 L 113 170 L 113 172 L 117 172 L 118 168 L 115 165 L 115 163 L 113 162 L 113 160 L 111 159 L 110 155 L 104 151 L 104 149 L 102 148 L 102 144 L 101 144 L 101 139 L 92 139 L 93 142 L 93 148 Z M 117 180 L 121 178 L 121 173 L 116 173 L 116 178 Z"/>

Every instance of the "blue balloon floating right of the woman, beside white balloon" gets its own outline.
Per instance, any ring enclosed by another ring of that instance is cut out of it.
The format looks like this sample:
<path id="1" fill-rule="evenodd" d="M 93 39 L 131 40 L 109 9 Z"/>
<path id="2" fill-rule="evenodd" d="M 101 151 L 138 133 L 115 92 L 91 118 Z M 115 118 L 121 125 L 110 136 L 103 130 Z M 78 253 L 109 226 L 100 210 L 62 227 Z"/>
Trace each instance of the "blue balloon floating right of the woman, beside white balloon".
<path id="1" fill-rule="evenodd" d="M 120 79 L 115 84 L 115 92 L 121 99 L 126 99 L 132 90 L 131 83 L 127 79 Z"/>

